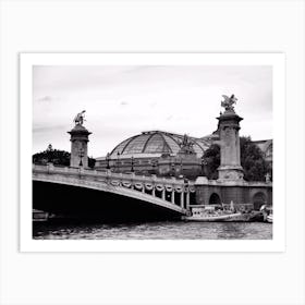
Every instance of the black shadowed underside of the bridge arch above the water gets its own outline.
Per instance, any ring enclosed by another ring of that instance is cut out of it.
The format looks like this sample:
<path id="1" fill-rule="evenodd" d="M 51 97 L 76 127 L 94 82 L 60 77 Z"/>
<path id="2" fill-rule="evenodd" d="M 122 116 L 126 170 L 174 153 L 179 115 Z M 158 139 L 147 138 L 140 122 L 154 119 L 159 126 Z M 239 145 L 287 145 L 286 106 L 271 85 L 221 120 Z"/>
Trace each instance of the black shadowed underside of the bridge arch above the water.
<path id="1" fill-rule="evenodd" d="M 33 179 L 33 208 L 66 218 L 112 220 L 163 220 L 180 218 L 185 210 L 137 191 L 100 183 L 78 184 Z"/>

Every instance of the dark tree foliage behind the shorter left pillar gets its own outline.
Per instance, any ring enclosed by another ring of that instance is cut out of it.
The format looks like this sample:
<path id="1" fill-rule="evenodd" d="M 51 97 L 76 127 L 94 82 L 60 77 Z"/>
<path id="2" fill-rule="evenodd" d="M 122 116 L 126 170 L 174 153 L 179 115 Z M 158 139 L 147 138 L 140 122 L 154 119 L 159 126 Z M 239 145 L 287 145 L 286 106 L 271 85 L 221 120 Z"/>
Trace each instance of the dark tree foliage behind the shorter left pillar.
<path id="1" fill-rule="evenodd" d="M 33 155 L 33 163 L 35 164 L 47 164 L 48 162 L 54 166 L 70 166 L 71 154 L 65 150 L 53 149 L 52 145 L 49 144 L 48 148 L 44 151 Z M 94 168 L 96 160 L 88 157 L 88 167 Z"/>

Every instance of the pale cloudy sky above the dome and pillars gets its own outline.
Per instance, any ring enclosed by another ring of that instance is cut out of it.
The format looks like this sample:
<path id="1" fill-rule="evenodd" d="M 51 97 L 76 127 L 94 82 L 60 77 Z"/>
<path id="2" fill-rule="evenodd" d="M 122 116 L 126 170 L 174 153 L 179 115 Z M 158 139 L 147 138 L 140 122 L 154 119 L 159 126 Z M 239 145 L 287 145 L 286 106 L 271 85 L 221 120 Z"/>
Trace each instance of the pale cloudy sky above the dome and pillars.
<path id="1" fill-rule="evenodd" d="M 232 94 L 240 135 L 272 138 L 269 65 L 35 65 L 33 154 L 49 144 L 70 151 L 66 132 L 83 110 L 95 158 L 144 131 L 203 137 L 217 129 L 222 95 Z"/>

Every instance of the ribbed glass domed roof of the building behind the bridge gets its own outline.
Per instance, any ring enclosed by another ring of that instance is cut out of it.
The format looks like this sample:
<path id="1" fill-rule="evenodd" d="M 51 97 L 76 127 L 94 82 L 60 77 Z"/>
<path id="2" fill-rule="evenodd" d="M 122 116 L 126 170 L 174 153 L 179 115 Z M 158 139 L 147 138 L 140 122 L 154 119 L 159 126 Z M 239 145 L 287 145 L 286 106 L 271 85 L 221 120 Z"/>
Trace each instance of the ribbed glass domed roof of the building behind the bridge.
<path id="1" fill-rule="evenodd" d="M 180 143 L 183 135 L 161 131 L 143 132 L 121 142 L 110 154 L 111 157 L 138 154 L 176 154 L 180 150 Z M 209 144 L 200 138 L 188 137 L 198 157 L 209 147 Z"/>

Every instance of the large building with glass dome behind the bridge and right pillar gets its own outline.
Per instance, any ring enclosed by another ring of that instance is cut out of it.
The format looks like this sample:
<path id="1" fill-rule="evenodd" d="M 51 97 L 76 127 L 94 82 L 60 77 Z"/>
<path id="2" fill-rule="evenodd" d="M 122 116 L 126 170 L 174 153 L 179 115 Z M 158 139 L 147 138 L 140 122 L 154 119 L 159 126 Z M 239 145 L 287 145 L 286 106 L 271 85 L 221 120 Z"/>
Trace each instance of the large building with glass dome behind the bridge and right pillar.
<path id="1" fill-rule="evenodd" d="M 211 135 L 202 138 L 163 131 L 148 131 L 118 144 L 106 157 L 96 159 L 97 170 L 186 176 L 204 174 L 204 151 L 211 145 Z M 254 142 L 272 168 L 272 141 Z"/>

